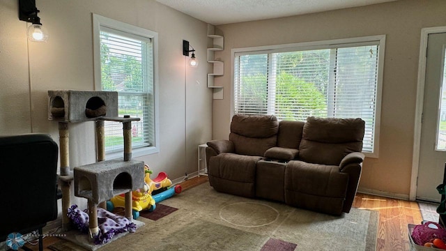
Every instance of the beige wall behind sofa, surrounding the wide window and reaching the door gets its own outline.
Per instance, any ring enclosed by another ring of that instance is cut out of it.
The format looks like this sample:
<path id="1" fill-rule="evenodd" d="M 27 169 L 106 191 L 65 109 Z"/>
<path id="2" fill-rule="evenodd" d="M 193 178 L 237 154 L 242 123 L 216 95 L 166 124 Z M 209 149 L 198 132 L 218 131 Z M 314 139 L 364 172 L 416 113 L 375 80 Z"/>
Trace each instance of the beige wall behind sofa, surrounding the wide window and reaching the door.
<path id="1" fill-rule="evenodd" d="M 231 120 L 231 49 L 386 35 L 379 158 L 366 158 L 360 190 L 408 197 L 421 29 L 446 25 L 446 1 L 404 0 L 294 17 L 218 26 L 224 33 L 224 99 L 213 102 L 213 139 Z M 443 174 L 443 173 L 442 173 Z M 439 174 L 440 175 L 440 174 Z"/>

